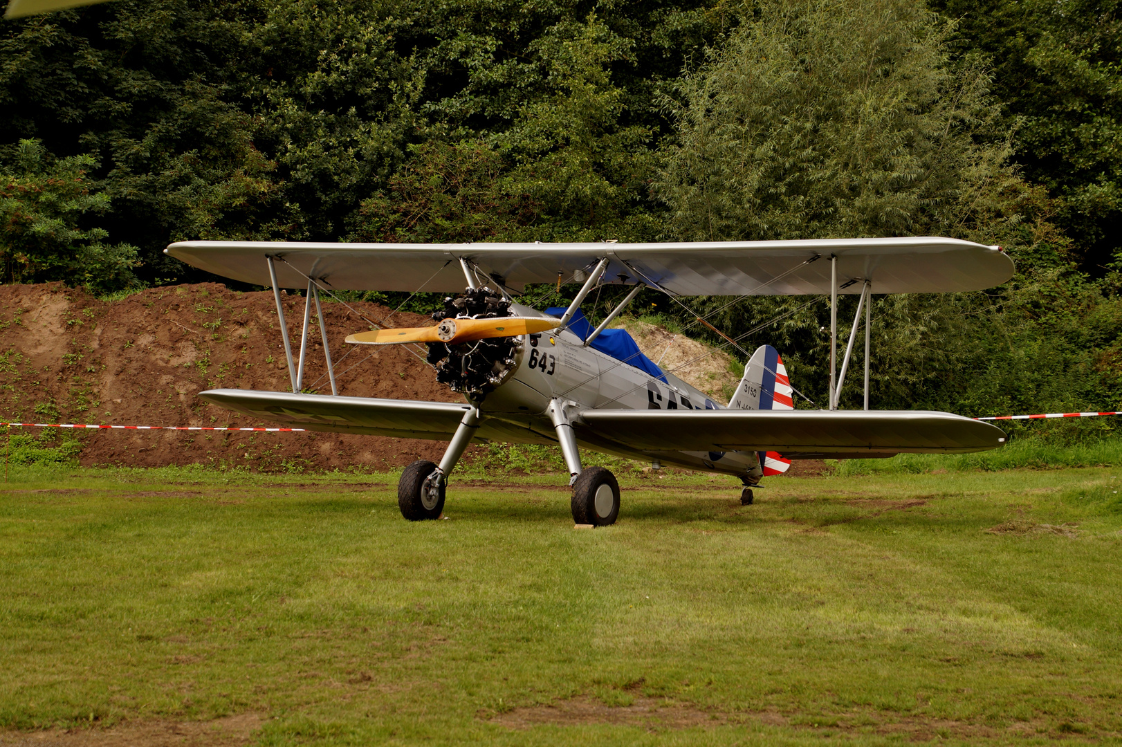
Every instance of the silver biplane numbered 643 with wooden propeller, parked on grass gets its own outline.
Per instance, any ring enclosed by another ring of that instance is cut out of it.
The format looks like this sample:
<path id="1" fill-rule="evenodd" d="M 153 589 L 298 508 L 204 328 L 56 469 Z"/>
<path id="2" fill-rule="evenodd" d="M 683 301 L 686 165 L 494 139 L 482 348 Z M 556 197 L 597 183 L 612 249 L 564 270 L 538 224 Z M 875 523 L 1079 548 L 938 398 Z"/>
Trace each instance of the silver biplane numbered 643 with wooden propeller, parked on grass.
<path id="1" fill-rule="evenodd" d="M 744 504 L 769 473 L 791 459 L 882 458 L 963 453 L 1000 446 L 997 427 L 939 412 L 868 408 L 873 293 L 980 290 L 1013 275 L 1000 247 L 956 239 L 824 239 L 677 243 L 307 243 L 185 241 L 166 252 L 215 275 L 273 288 L 292 391 L 211 389 L 221 407 L 273 423 L 333 433 L 447 441 L 440 463 L 416 461 L 398 482 L 406 519 L 440 517 L 449 477 L 472 441 L 552 444 L 570 473 L 577 524 L 613 524 L 619 485 L 591 450 L 738 478 Z M 528 284 L 580 284 L 564 307 L 526 301 Z M 581 304 L 617 286 L 615 307 L 594 328 Z M 719 295 L 829 295 L 830 380 L 827 407 L 794 407 L 779 352 L 762 345 L 745 366 L 727 406 L 673 371 L 662 370 L 610 323 L 644 288 L 681 299 Z M 293 356 L 282 289 L 306 292 Z M 436 380 L 462 403 L 342 396 L 338 391 L 320 294 L 338 289 L 448 293 L 433 324 L 356 331 L 349 344 L 423 345 Z M 837 297 L 859 294 L 838 369 Z M 311 314 L 321 333 L 331 394 L 302 391 Z M 865 400 L 838 399 L 865 314 Z"/>

